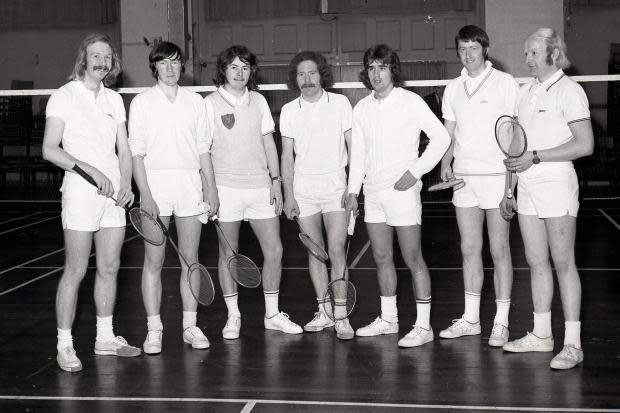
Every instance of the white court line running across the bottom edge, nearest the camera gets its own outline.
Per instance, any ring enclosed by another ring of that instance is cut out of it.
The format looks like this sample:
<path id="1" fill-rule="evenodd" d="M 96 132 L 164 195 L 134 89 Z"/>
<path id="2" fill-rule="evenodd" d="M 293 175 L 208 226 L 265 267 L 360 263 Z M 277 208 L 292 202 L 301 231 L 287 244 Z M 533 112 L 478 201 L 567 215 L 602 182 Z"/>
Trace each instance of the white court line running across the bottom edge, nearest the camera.
<path id="1" fill-rule="evenodd" d="M 256 404 L 306 405 L 306 406 L 346 406 L 346 407 L 392 407 L 400 409 L 438 409 L 438 410 L 491 410 L 491 411 L 527 411 L 527 412 L 588 412 L 620 413 L 617 408 L 580 408 L 580 407 L 535 407 L 535 406 L 463 406 L 451 404 L 413 404 L 413 403 L 359 403 L 359 402 L 324 402 L 312 400 L 257 400 L 257 399 L 216 399 L 203 397 L 79 397 L 79 396 L 19 396 L 0 395 L 0 400 L 40 400 L 40 401 L 109 401 L 109 402 L 185 402 L 185 403 L 246 403 Z M 249 411 L 249 410 L 242 410 Z"/>

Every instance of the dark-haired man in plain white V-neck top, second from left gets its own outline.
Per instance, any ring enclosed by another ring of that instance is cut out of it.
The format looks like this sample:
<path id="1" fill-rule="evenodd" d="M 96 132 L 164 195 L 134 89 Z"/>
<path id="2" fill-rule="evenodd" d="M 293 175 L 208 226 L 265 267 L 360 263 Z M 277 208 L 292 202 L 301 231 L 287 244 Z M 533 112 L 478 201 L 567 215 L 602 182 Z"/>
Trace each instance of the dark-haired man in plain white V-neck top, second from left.
<path id="1" fill-rule="evenodd" d="M 140 190 L 140 207 L 159 216 L 168 227 L 174 214 L 179 250 L 189 263 L 198 262 L 203 199 L 217 211 L 217 194 L 211 158 L 207 115 L 202 97 L 179 87 L 185 70 L 181 49 L 170 42 L 158 43 L 149 54 L 149 68 L 155 86 L 137 95 L 129 110 L 129 147 L 133 156 L 133 176 Z M 203 188 L 200 170 L 210 182 Z M 210 171 L 210 172 L 209 172 Z M 163 324 L 161 269 L 166 244 L 144 242 L 142 299 L 148 333 L 144 352 L 161 352 Z M 209 347 L 209 340 L 196 326 L 194 299 L 187 282 L 187 266 L 181 261 L 179 288 L 183 305 L 183 341 L 193 348 Z"/>

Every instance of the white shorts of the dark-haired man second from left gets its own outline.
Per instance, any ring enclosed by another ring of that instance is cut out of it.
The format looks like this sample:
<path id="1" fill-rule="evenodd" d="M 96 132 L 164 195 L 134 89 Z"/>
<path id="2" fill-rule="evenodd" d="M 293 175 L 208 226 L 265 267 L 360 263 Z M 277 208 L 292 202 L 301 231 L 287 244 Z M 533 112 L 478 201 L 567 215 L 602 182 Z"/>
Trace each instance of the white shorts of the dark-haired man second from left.
<path id="1" fill-rule="evenodd" d="M 153 169 L 146 171 L 146 177 L 159 215 L 190 217 L 202 212 L 202 180 L 197 169 Z"/>

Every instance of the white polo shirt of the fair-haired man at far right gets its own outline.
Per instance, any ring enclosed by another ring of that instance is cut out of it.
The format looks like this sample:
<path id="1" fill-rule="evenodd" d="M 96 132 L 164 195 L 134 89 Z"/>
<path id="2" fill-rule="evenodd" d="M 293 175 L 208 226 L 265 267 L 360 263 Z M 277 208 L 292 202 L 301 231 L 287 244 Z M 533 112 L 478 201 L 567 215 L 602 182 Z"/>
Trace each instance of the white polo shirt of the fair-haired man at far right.
<path id="1" fill-rule="evenodd" d="M 543 150 L 570 141 L 569 125 L 590 119 L 590 109 L 583 88 L 558 70 L 542 83 L 535 79 L 521 87 L 517 116 L 527 134 L 527 149 Z M 519 175 L 538 176 L 558 168 L 573 165 L 571 161 L 541 162 Z"/>

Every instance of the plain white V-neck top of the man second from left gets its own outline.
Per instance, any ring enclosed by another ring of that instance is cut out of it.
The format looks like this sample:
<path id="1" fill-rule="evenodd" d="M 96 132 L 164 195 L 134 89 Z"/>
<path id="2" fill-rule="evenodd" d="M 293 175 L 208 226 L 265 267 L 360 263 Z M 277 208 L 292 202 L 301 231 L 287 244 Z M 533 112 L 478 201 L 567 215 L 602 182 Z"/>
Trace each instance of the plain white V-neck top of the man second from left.
<path id="1" fill-rule="evenodd" d="M 200 169 L 211 136 L 202 97 L 181 87 L 170 102 L 157 85 L 137 95 L 129 109 L 129 148 L 144 155 L 144 167 Z"/>

